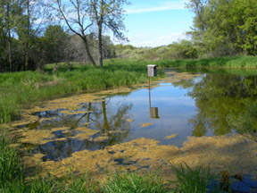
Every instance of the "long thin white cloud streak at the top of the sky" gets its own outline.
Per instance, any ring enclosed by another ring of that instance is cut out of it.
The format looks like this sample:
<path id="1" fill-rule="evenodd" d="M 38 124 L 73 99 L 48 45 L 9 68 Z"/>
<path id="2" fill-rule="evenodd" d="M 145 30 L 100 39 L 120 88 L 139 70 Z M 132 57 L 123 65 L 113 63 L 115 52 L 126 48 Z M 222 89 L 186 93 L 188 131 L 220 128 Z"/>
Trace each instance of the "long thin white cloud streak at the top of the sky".
<path id="1" fill-rule="evenodd" d="M 187 0 L 166 1 L 158 6 L 148 7 L 131 7 L 127 9 L 127 13 L 149 13 L 160 12 L 166 10 L 184 10 Z"/>

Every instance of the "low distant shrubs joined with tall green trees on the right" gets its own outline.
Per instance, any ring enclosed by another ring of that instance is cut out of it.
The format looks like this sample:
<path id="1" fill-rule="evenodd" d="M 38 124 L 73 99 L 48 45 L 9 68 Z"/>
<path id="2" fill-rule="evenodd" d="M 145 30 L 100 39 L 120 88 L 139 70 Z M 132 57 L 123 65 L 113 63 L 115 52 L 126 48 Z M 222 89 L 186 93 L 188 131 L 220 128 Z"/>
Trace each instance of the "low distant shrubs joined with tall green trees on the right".
<path id="1" fill-rule="evenodd" d="M 256 0 L 190 0 L 195 13 L 188 40 L 169 46 L 116 46 L 116 54 L 146 60 L 257 55 Z M 169 44 L 169 43 L 168 43 Z"/>

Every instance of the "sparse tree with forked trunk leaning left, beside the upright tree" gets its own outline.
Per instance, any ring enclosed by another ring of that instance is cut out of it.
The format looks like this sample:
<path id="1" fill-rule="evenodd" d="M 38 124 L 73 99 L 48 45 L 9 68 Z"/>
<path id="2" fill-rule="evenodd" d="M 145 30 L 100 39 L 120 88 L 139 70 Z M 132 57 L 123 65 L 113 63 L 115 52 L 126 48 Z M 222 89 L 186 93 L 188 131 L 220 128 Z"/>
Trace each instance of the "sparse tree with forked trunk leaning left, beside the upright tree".
<path id="1" fill-rule="evenodd" d="M 58 11 L 60 18 L 65 21 L 70 31 L 78 35 L 84 42 L 87 56 L 93 65 L 95 64 L 94 57 L 90 52 L 88 43 L 88 36 L 90 33 L 87 31 L 93 25 L 89 20 L 88 4 L 85 0 L 69 0 L 63 3 L 62 0 L 55 0 L 57 7 L 54 7 Z"/>

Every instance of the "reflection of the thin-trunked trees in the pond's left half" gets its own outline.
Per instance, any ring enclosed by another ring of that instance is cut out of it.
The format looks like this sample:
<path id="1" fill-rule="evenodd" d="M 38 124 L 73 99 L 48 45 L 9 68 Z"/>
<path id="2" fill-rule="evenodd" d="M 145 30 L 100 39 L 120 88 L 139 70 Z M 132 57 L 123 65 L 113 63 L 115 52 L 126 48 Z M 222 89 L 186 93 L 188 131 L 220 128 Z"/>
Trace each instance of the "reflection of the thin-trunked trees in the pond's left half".
<path id="1" fill-rule="evenodd" d="M 57 116 L 57 118 L 48 122 L 30 124 L 30 129 L 46 130 L 46 128 L 55 127 L 70 127 L 71 129 L 69 133 L 63 133 L 62 130 L 55 131 L 55 136 L 60 140 L 38 145 L 34 152 L 46 154 L 45 160 L 58 160 L 68 157 L 76 151 L 103 149 L 106 146 L 122 142 L 129 134 L 130 124 L 126 119 L 130 117 L 129 110 L 132 108 L 132 104 L 123 103 L 113 106 L 108 105 L 109 101 L 83 104 L 79 110 L 88 113 L 82 115 L 64 115 L 58 112 L 44 113 L 44 117 Z M 100 132 L 90 140 L 76 138 L 76 135 L 79 134 L 79 130 L 76 129 L 85 127 L 87 122 L 90 122 L 88 128 Z M 94 138 L 100 136 L 107 138 L 103 141 L 94 141 Z"/>

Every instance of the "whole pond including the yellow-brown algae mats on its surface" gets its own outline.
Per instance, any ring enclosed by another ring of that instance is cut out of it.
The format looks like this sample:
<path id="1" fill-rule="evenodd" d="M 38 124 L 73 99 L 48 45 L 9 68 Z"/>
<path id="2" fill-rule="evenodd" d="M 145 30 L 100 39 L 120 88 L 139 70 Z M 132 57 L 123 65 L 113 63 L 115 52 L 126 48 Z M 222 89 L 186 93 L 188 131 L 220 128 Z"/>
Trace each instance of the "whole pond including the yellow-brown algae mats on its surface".
<path id="1" fill-rule="evenodd" d="M 228 170 L 232 180 L 243 174 L 245 180 L 233 183 L 238 192 L 256 190 L 251 177 L 257 173 L 256 141 L 236 132 L 242 133 L 237 127 L 242 117 L 253 113 L 243 123 L 256 135 L 257 71 L 165 72 L 169 77 L 150 89 L 138 85 L 67 96 L 25 110 L 12 122 L 17 143 L 35 155 L 28 161 L 43 160 L 43 172 L 54 176 L 67 175 L 70 164 L 75 172 L 103 175 L 120 165 L 156 171 L 165 160 L 190 166 L 201 160 L 217 172 Z M 162 175 L 170 179 L 170 174 L 165 163 Z"/>

